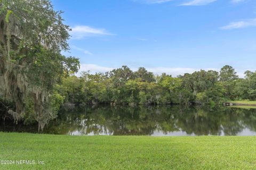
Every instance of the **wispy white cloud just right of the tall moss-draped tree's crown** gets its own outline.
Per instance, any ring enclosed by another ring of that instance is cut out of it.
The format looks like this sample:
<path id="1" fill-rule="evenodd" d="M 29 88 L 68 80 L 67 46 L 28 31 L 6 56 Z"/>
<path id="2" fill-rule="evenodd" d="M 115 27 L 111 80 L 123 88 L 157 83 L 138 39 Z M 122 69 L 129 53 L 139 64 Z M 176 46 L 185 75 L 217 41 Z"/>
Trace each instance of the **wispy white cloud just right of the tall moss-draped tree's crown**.
<path id="1" fill-rule="evenodd" d="M 72 38 L 74 39 L 82 39 L 84 37 L 91 37 L 91 36 L 99 36 L 99 35 L 113 35 L 112 33 L 109 33 L 105 29 L 97 29 L 92 28 L 86 25 L 77 25 L 72 28 L 72 31 L 70 32 Z"/>

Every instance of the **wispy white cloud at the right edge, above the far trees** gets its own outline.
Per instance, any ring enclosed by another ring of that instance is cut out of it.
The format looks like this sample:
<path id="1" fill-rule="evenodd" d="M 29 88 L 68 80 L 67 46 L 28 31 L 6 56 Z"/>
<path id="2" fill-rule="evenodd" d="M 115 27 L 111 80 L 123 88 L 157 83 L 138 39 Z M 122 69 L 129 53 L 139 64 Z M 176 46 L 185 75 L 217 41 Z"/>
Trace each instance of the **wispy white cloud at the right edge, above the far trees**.
<path id="1" fill-rule="evenodd" d="M 230 29 L 237 29 L 237 28 L 245 28 L 250 26 L 256 26 L 256 19 L 248 19 L 243 21 L 237 22 L 230 22 L 228 25 L 221 27 L 222 30 L 230 30 Z"/>

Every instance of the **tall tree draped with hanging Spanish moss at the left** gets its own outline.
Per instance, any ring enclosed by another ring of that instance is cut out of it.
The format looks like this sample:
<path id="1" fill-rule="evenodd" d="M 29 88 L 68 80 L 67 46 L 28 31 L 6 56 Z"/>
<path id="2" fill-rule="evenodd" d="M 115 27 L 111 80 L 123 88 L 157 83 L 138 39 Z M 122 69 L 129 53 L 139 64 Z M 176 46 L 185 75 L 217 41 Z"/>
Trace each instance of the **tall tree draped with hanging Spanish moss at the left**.
<path id="1" fill-rule="evenodd" d="M 18 121 L 31 100 L 38 129 L 56 116 L 52 90 L 59 78 L 77 72 L 77 58 L 66 58 L 68 25 L 49 0 L 0 1 L 0 92 L 15 103 Z"/>

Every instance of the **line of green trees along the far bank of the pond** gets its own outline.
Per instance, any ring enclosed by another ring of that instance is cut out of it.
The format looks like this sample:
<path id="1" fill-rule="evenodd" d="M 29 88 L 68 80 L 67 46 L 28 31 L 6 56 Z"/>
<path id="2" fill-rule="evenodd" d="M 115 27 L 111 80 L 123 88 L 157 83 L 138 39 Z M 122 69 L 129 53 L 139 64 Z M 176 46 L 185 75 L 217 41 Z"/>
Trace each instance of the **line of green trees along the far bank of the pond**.
<path id="1" fill-rule="evenodd" d="M 154 75 L 140 67 L 133 72 L 122 66 L 106 73 L 83 72 L 62 79 L 58 93 L 65 98 L 65 107 L 110 105 L 216 105 L 227 100 L 255 100 L 256 73 L 245 72 L 238 78 L 229 65 L 220 72 L 209 70 L 172 77 Z"/>

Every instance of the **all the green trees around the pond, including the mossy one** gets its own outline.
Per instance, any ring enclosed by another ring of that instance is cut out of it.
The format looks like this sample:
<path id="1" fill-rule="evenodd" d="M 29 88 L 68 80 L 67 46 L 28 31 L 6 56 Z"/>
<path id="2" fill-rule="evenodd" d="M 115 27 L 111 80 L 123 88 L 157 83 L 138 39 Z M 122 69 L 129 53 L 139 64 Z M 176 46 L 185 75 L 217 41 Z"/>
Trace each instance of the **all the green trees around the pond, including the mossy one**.
<path id="1" fill-rule="evenodd" d="M 217 105 L 256 99 L 256 72 L 238 78 L 231 66 L 178 77 L 154 75 L 127 66 L 106 73 L 83 72 L 66 57 L 68 25 L 48 0 L 0 1 L 0 116 L 2 120 L 38 122 L 38 129 L 67 110 L 95 104 Z"/>

